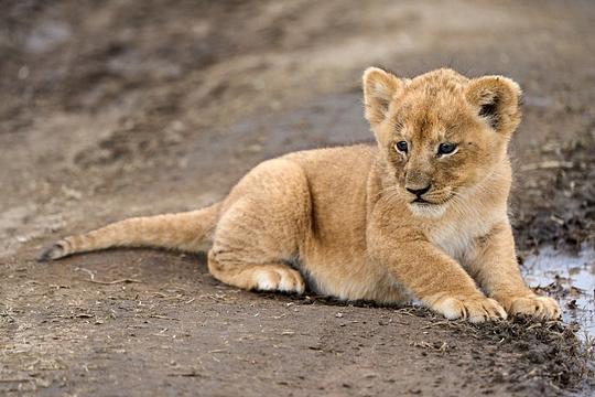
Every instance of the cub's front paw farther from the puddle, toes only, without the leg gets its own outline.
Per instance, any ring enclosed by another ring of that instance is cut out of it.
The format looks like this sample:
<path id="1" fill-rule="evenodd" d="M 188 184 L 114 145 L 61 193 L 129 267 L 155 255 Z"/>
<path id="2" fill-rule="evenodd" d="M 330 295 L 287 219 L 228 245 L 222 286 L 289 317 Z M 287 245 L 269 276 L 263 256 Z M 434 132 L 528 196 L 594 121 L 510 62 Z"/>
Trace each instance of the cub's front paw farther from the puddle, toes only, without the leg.
<path id="1" fill-rule="evenodd" d="M 506 319 L 506 311 L 500 303 L 482 296 L 443 297 L 430 304 L 430 309 L 448 320 L 464 319 L 473 323 Z"/>

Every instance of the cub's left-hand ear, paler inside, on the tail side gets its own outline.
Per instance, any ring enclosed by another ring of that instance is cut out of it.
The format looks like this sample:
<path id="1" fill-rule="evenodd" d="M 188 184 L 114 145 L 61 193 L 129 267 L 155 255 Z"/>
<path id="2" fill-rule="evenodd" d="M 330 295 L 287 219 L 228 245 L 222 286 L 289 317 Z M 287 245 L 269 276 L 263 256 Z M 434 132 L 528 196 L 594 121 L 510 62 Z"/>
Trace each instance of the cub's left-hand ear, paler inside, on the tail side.
<path id="1" fill-rule="evenodd" d="M 403 81 L 378 67 L 368 67 L 361 77 L 366 119 L 370 125 L 381 122 L 388 114 L 390 100 L 404 86 Z"/>

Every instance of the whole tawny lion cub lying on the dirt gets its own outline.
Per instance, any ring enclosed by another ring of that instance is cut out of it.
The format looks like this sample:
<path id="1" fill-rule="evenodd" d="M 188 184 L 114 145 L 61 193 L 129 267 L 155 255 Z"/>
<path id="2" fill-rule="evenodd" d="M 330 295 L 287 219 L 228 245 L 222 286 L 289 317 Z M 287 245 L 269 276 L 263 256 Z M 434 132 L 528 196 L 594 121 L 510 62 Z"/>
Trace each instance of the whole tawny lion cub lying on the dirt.
<path id="1" fill-rule="evenodd" d="M 507 215 L 519 95 L 501 76 L 439 69 L 405 79 L 370 67 L 365 116 L 377 146 L 269 160 L 209 207 L 66 237 L 40 258 L 206 243 L 210 273 L 247 290 L 302 293 L 307 277 L 320 293 L 418 299 L 447 319 L 558 319 L 558 303 L 520 276 Z"/>

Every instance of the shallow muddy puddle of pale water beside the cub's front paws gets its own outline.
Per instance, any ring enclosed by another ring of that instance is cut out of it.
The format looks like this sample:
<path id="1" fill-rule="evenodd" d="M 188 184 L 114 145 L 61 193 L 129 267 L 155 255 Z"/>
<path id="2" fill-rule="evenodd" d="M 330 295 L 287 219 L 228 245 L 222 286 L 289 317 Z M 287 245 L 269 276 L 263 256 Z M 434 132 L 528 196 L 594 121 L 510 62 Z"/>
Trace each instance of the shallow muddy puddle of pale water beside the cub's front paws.
<path id="1" fill-rule="evenodd" d="M 581 339 L 595 337 L 595 251 L 573 256 L 552 247 L 540 249 L 521 267 L 531 287 L 541 287 L 559 300 L 566 323 L 581 326 Z"/>

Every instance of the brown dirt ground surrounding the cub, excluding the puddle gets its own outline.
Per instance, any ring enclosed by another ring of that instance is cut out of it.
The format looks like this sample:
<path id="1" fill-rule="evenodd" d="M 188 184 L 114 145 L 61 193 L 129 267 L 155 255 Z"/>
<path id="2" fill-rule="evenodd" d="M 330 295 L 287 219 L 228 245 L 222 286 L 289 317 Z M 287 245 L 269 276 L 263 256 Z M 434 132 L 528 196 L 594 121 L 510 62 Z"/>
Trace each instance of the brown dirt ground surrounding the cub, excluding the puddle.
<path id="1" fill-rule="evenodd" d="M 555 322 L 249 293 L 175 253 L 34 257 L 64 235 L 212 203 L 263 159 L 370 139 L 370 65 L 517 79 L 520 259 L 593 245 L 593 2 L 0 6 L 0 394 L 589 393 L 593 363 Z"/>

